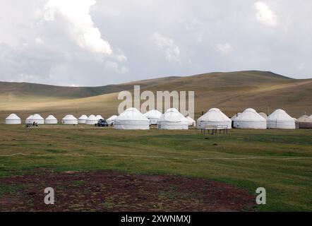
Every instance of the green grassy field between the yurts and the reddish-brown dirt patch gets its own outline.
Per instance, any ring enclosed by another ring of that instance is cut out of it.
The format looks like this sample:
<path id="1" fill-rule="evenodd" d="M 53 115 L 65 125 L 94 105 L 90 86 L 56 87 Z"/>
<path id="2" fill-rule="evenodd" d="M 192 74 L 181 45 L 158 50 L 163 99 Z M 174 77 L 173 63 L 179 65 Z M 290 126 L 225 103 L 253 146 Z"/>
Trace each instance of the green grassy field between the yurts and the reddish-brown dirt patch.
<path id="1" fill-rule="evenodd" d="M 184 175 L 226 182 L 251 194 L 265 187 L 267 205 L 258 206 L 259 211 L 312 210 L 312 130 L 236 129 L 203 136 L 196 129 L 0 125 L 0 141 L 1 178 L 42 169 Z M 0 184 L 0 195 L 16 189 L 23 188 Z"/>

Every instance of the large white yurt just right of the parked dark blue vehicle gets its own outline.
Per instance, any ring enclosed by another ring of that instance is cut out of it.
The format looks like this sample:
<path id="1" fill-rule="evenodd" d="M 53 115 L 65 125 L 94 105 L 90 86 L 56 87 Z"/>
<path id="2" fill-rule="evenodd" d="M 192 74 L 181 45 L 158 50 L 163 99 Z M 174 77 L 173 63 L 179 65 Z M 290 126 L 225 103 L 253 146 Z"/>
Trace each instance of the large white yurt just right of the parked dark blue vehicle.
<path id="1" fill-rule="evenodd" d="M 150 120 L 131 107 L 114 119 L 114 129 L 150 129 Z"/>

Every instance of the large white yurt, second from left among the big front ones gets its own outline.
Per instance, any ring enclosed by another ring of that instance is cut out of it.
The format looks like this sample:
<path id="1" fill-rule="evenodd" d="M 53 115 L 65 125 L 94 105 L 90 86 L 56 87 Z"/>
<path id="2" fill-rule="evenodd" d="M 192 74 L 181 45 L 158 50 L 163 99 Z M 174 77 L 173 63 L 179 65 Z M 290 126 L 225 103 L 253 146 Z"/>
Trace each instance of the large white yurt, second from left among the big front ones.
<path id="1" fill-rule="evenodd" d="M 169 108 L 158 121 L 158 129 L 188 129 L 188 119 L 177 109 Z"/>

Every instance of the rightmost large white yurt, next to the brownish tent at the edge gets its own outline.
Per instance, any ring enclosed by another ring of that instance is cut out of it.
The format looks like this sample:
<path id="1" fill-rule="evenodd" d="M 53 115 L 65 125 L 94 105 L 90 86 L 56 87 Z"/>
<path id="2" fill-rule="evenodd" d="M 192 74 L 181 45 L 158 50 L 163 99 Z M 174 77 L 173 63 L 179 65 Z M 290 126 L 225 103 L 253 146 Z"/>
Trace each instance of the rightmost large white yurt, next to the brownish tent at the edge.
<path id="1" fill-rule="evenodd" d="M 268 129 L 296 129 L 295 120 L 282 109 L 275 110 L 267 121 Z"/>

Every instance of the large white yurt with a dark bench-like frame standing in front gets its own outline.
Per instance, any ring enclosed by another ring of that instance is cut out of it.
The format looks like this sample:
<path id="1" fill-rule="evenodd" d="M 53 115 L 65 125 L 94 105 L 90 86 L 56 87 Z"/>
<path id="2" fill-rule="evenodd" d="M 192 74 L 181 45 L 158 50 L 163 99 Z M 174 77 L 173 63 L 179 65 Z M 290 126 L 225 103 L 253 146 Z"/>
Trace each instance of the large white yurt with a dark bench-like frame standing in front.
<path id="1" fill-rule="evenodd" d="M 219 126 L 220 129 L 232 129 L 232 121 L 220 109 L 212 108 L 199 119 L 197 119 L 198 129 L 204 129 L 205 126 Z"/>

